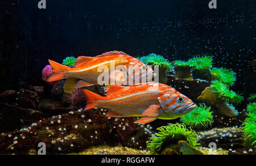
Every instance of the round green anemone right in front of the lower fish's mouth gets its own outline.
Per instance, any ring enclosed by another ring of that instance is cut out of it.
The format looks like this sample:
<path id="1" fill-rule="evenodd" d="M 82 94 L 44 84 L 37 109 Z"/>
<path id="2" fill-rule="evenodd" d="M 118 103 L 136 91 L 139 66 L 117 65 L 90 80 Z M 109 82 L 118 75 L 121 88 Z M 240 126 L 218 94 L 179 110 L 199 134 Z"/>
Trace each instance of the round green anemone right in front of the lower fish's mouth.
<path id="1" fill-rule="evenodd" d="M 210 107 L 207 107 L 205 104 L 200 104 L 199 107 L 192 110 L 190 113 L 181 116 L 181 122 L 195 129 L 212 125 L 213 117 L 212 112 L 210 112 Z"/>

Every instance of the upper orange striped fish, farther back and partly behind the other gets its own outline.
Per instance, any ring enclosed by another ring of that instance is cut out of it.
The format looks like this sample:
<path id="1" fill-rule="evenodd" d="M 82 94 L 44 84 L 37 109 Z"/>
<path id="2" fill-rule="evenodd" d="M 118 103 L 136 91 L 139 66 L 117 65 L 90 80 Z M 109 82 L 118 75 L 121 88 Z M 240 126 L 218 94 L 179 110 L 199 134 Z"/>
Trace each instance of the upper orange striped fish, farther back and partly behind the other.
<path id="1" fill-rule="evenodd" d="M 48 82 L 66 78 L 81 79 L 77 82 L 75 88 L 95 84 L 109 84 L 110 81 L 118 85 L 133 85 L 135 84 L 136 78 L 139 79 L 138 83 L 142 83 L 143 80 L 146 82 L 147 78 L 153 78 L 155 76 L 154 71 L 150 67 L 144 65 L 138 59 L 118 51 L 107 52 L 96 57 L 78 57 L 73 68 L 61 65 L 50 59 L 49 63 L 53 71 L 48 78 Z M 118 67 L 121 69 L 117 70 Z M 134 70 L 129 70 L 131 67 Z M 105 78 L 107 83 L 99 83 L 98 79 L 106 71 L 108 72 L 108 78 Z"/>

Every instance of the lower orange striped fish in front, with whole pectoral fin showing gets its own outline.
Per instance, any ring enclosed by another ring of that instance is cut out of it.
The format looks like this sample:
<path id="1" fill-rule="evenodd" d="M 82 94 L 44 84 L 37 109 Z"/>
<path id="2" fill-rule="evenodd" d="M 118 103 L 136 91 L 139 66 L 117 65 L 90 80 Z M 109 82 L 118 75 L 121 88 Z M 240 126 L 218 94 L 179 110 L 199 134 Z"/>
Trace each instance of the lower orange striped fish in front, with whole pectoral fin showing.
<path id="1" fill-rule="evenodd" d="M 196 105 L 174 88 L 161 83 L 134 86 L 107 86 L 106 97 L 84 90 L 85 110 L 106 108 L 107 117 L 142 117 L 135 123 L 146 124 L 156 118 L 171 120 L 191 112 Z"/>

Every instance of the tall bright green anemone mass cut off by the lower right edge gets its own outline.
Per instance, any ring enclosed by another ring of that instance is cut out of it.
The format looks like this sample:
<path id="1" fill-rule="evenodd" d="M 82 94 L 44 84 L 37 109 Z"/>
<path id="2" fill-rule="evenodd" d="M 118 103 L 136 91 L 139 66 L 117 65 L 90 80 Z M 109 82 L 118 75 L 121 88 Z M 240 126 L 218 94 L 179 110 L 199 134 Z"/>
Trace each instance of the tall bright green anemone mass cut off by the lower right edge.
<path id="1" fill-rule="evenodd" d="M 249 141 L 251 146 L 256 147 L 256 103 L 247 105 L 247 118 L 243 122 L 243 133 L 245 133 L 245 141 Z"/>

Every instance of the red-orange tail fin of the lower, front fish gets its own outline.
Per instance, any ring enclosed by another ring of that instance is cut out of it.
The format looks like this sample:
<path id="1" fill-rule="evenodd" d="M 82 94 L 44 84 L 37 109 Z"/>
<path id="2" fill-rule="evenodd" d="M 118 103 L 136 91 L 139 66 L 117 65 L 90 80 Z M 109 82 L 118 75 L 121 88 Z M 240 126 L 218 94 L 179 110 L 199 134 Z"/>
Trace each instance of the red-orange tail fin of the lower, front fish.
<path id="1" fill-rule="evenodd" d="M 93 93 L 88 90 L 84 90 L 85 96 L 87 98 L 87 105 L 84 110 L 92 109 L 97 107 L 97 101 L 101 100 L 103 97 L 100 95 L 97 95 L 96 93 Z"/>

